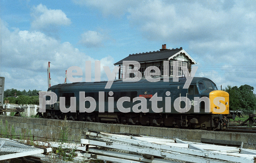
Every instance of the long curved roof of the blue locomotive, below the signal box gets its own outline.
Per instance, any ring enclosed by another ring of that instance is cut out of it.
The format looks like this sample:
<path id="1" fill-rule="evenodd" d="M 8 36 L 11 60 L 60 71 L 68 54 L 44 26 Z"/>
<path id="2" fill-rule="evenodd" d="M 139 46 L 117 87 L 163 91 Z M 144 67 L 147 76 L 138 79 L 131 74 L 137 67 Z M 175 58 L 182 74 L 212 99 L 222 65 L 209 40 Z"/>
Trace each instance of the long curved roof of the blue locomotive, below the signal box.
<path id="1" fill-rule="evenodd" d="M 163 77 L 160 77 L 160 81 L 158 82 L 163 82 Z M 191 83 L 198 83 L 199 81 L 201 81 L 202 79 L 207 79 L 209 80 L 208 78 L 201 78 L 201 77 L 194 77 L 193 80 L 191 81 Z M 179 77 L 179 81 L 178 82 L 173 82 L 172 81 L 172 77 L 169 78 L 169 82 L 163 82 L 163 83 L 166 83 L 168 85 L 170 84 L 185 84 L 185 82 L 187 81 L 187 79 L 185 77 Z M 63 86 L 80 86 L 80 85 L 106 85 L 108 81 L 96 81 L 96 82 L 75 82 L 75 83 L 66 83 L 66 84 L 58 84 L 58 85 L 53 85 L 50 87 L 50 89 L 55 89 L 55 88 L 60 88 L 60 87 L 63 87 Z M 150 82 L 148 80 L 146 80 L 145 78 L 142 78 L 140 79 L 140 81 L 135 81 L 135 82 L 125 82 L 121 79 L 119 80 L 114 80 L 113 81 L 113 85 L 115 84 L 127 84 L 127 85 L 131 85 L 132 83 L 144 83 L 147 85 L 155 85 L 157 84 L 158 82 Z M 157 84 L 158 85 L 158 84 Z"/>

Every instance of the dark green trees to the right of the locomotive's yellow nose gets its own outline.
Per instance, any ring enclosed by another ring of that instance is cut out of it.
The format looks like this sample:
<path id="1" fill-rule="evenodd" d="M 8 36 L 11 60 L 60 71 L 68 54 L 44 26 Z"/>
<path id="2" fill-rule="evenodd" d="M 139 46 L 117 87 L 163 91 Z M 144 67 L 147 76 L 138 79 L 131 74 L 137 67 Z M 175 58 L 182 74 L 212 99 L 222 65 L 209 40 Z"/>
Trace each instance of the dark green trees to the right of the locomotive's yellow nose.
<path id="1" fill-rule="evenodd" d="M 229 109 L 253 112 L 256 109 L 256 95 L 253 90 L 250 85 L 241 85 L 239 88 L 228 85 L 225 91 L 229 93 Z"/>

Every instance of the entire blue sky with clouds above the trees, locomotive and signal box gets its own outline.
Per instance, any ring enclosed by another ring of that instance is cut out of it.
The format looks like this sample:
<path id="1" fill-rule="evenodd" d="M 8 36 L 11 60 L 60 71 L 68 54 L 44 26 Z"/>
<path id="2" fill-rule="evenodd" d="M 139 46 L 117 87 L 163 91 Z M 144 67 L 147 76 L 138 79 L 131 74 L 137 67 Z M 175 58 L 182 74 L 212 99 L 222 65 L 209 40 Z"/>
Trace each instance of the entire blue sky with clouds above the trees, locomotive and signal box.
<path id="1" fill-rule="evenodd" d="M 0 25 L 5 89 L 46 91 L 48 61 L 52 85 L 64 82 L 70 66 L 85 74 L 85 61 L 93 80 L 94 61 L 113 70 L 129 54 L 162 44 L 183 47 L 197 62 L 196 76 L 219 89 L 256 89 L 255 1 L 0 0 Z"/>

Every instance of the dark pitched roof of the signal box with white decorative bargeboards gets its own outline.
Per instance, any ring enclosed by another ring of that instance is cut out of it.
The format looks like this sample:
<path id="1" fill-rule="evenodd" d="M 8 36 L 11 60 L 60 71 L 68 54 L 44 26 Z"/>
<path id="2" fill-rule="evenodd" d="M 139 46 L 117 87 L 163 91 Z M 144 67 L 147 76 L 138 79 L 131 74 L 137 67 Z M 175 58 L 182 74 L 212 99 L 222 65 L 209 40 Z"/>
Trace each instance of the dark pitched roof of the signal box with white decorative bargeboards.
<path id="1" fill-rule="evenodd" d="M 165 49 L 161 51 L 153 51 L 139 54 L 130 54 L 128 57 L 116 62 L 114 65 L 123 64 L 123 61 L 137 61 L 137 62 L 149 62 L 149 61 L 165 61 L 169 60 L 170 57 L 183 52 L 191 59 L 191 61 L 195 64 L 196 62 L 185 52 L 185 50 L 180 48 L 176 49 Z"/>

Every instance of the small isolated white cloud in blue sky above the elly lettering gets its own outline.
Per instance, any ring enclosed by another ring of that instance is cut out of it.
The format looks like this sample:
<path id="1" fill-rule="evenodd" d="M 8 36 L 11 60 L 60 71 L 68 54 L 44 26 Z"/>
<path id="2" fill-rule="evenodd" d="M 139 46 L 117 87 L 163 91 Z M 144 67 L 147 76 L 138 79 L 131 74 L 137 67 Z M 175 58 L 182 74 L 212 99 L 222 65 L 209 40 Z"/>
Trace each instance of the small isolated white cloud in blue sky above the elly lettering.
<path id="1" fill-rule="evenodd" d="M 87 31 L 81 34 L 80 44 L 86 47 L 101 47 L 106 37 L 96 31 Z"/>

